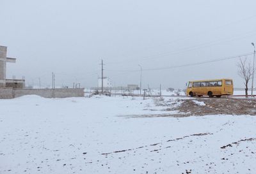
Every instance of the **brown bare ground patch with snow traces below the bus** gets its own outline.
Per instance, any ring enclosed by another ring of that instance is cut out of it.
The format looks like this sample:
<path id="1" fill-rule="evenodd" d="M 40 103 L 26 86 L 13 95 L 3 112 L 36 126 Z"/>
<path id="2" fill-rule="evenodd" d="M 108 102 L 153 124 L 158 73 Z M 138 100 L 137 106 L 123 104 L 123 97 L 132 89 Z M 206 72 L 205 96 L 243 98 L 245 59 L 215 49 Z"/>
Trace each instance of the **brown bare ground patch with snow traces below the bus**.
<path id="1" fill-rule="evenodd" d="M 199 104 L 198 104 L 199 103 Z M 202 105 L 200 105 L 200 103 Z M 155 99 L 156 106 L 165 106 L 165 114 L 124 115 L 129 117 L 189 117 L 204 115 L 256 115 L 256 99 L 244 98 L 186 98 Z M 176 111 L 173 113 L 172 111 Z"/>

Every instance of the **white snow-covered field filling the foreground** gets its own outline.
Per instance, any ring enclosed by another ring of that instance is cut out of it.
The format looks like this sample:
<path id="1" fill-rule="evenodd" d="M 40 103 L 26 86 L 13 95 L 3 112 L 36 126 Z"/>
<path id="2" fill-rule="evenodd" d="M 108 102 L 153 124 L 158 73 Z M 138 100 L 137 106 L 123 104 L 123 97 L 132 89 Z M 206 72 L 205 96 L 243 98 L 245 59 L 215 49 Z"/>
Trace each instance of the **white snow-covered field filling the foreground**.
<path id="1" fill-rule="evenodd" d="M 129 117 L 166 108 L 120 96 L 1 99 L 0 173 L 256 173 L 256 117 Z"/>

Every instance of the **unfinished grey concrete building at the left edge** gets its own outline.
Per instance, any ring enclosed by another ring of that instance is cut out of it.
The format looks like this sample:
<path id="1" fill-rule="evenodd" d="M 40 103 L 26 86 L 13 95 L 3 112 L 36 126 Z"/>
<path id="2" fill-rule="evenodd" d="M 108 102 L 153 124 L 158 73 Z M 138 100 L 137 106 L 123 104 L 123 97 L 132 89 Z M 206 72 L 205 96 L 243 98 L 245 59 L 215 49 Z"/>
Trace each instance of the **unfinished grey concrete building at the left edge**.
<path id="1" fill-rule="evenodd" d="M 25 80 L 6 79 L 6 62 L 16 62 L 15 58 L 6 57 L 7 47 L 0 46 L 0 87 L 12 87 L 22 89 Z"/>

